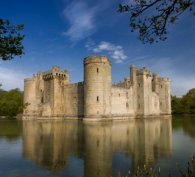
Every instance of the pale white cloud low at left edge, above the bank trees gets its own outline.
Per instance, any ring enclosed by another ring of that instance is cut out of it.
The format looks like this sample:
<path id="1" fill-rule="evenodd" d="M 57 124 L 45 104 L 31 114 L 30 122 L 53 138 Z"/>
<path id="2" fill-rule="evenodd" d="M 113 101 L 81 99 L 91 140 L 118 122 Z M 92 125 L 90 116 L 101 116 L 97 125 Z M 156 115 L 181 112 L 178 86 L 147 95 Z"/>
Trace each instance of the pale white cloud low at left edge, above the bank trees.
<path id="1" fill-rule="evenodd" d="M 0 67 L 0 83 L 5 90 L 14 88 L 23 90 L 24 78 L 27 78 L 28 76 L 29 74 L 17 70 Z"/>

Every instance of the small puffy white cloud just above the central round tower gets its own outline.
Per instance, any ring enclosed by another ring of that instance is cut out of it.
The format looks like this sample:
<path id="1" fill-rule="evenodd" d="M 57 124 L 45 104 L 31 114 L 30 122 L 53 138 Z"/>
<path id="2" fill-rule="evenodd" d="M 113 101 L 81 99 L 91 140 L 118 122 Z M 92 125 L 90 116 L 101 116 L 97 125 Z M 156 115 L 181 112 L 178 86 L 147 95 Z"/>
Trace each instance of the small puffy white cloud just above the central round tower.
<path id="1" fill-rule="evenodd" d="M 100 53 L 102 51 L 108 52 L 111 58 L 115 60 L 115 63 L 123 63 L 127 59 L 123 47 L 114 45 L 110 42 L 102 41 L 98 46 L 95 46 L 92 42 L 88 42 L 85 47 L 95 53 Z"/>

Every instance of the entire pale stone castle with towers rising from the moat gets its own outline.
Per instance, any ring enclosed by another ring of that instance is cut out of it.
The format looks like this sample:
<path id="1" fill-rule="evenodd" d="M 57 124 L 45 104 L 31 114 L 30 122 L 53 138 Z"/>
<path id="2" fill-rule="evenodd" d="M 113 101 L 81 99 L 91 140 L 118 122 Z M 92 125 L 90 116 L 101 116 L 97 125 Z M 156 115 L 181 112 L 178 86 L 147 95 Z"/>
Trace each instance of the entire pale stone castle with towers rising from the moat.
<path id="1" fill-rule="evenodd" d="M 112 84 L 111 62 L 105 56 L 84 59 L 84 81 L 71 83 L 54 66 L 24 80 L 23 118 L 108 119 L 170 115 L 170 80 L 146 68 L 130 66 L 123 82 Z"/>

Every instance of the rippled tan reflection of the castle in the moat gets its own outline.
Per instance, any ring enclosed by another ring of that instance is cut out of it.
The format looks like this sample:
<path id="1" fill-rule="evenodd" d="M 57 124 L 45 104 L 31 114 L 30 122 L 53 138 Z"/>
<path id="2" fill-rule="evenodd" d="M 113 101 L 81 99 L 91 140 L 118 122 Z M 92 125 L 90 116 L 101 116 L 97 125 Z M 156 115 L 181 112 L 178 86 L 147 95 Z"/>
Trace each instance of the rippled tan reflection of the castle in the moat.
<path id="1" fill-rule="evenodd" d="M 23 157 L 52 171 L 66 170 L 74 156 L 83 163 L 83 176 L 109 177 L 117 153 L 131 161 L 131 171 L 170 157 L 171 119 L 23 122 Z"/>

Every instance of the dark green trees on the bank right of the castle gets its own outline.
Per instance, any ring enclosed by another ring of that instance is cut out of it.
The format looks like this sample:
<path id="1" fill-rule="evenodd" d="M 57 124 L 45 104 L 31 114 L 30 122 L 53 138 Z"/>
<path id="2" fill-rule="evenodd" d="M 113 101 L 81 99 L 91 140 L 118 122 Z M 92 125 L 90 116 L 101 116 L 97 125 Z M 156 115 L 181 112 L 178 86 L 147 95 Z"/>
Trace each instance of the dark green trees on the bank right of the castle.
<path id="1" fill-rule="evenodd" d="M 189 90 L 183 97 L 171 97 L 173 114 L 195 114 L 195 88 Z"/>

